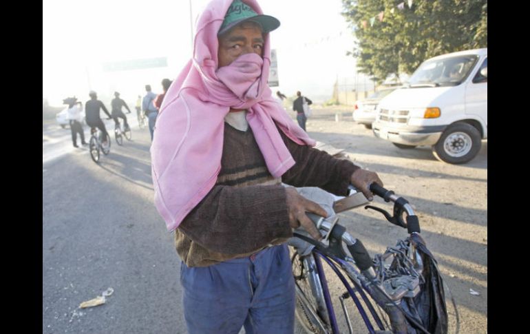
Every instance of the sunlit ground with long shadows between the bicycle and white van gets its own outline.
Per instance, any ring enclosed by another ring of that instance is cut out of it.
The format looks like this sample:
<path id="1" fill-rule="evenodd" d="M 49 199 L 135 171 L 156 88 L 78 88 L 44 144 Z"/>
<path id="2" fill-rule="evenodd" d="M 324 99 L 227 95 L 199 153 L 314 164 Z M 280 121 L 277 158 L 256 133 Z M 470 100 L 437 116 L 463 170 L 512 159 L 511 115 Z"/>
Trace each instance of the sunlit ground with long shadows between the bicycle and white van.
<path id="1" fill-rule="evenodd" d="M 471 162 L 449 165 L 436 160 L 430 147 L 399 149 L 376 138 L 352 121 L 351 112 L 349 107 L 314 107 L 307 131 L 315 140 L 344 149 L 354 163 L 377 171 L 386 188 L 410 201 L 458 304 L 460 333 L 487 333 L 487 140 Z M 294 112 L 290 116 L 295 119 Z M 379 198 L 374 203 L 391 209 Z M 407 236 L 381 220 L 381 213 L 362 207 L 340 217 L 372 255 Z"/>

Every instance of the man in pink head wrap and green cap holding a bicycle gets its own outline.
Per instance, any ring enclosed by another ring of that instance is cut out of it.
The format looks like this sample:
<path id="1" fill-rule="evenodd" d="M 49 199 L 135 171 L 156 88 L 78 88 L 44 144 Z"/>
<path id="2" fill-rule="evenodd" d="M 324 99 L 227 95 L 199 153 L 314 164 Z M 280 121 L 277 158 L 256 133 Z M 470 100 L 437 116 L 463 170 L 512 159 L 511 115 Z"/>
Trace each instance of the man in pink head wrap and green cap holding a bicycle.
<path id="1" fill-rule="evenodd" d="M 377 174 L 313 149 L 267 86 L 268 32 L 255 0 L 213 0 L 193 61 L 166 95 L 151 146 L 155 205 L 175 231 L 188 333 L 293 333 L 293 228 L 326 216 L 295 187 L 365 196 Z"/>

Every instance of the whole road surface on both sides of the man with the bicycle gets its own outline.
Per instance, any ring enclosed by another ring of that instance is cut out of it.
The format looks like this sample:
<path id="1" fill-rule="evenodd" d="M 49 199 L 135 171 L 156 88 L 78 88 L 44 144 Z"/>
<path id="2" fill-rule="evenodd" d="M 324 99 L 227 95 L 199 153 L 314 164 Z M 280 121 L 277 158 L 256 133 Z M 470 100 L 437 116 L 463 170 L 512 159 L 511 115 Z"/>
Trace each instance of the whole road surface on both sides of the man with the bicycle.
<path id="1" fill-rule="evenodd" d="M 471 163 L 447 165 L 428 148 L 400 150 L 374 138 L 346 112 L 337 123 L 335 112 L 315 108 L 310 136 L 345 149 L 411 200 L 456 294 L 460 333 L 485 333 L 487 141 Z M 149 130 L 129 118 L 133 140 L 119 147 L 113 138 L 99 165 L 86 147 L 72 147 L 70 129 L 43 124 L 43 333 L 186 333 L 180 260 L 153 206 Z M 376 213 L 359 210 L 340 218 L 371 253 L 405 236 Z M 109 287 L 114 293 L 105 305 L 78 309 Z M 470 295 L 470 288 L 480 295 Z"/>

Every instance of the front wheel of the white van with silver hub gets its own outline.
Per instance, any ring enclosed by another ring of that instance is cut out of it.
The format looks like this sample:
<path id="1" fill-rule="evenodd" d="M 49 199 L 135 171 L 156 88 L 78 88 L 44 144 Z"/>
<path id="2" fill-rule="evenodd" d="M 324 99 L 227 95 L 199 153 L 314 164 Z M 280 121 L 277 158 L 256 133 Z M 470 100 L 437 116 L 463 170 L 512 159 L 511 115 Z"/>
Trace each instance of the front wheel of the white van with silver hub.
<path id="1" fill-rule="evenodd" d="M 432 154 L 445 163 L 467 163 L 480 151 L 480 132 L 467 123 L 449 125 L 438 143 L 432 146 Z"/>

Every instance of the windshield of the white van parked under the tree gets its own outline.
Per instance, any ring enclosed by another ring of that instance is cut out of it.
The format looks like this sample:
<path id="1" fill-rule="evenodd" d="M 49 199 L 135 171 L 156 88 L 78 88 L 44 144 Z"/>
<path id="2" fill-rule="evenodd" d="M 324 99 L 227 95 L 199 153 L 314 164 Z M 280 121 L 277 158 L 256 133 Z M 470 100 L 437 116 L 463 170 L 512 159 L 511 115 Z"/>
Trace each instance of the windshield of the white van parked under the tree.
<path id="1" fill-rule="evenodd" d="M 476 64 L 478 56 L 454 56 L 425 61 L 412 74 L 409 87 L 438 87 L 460 85 Z"/>

